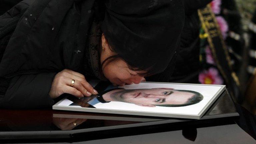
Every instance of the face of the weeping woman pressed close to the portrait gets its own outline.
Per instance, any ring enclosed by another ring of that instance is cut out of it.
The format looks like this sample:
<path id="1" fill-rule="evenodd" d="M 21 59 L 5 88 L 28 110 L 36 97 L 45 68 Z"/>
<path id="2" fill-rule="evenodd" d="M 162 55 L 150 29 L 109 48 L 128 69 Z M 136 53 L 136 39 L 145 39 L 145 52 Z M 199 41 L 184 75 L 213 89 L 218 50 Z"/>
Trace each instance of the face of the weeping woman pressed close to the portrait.
<path id="1" fill-rule="evenodd" d="M 101 63 L 108 57 L 115 55 L 109 48 L 109 45 L 102 35 L 101 38 L 102 47 L 100 60 Z M 143 76 L 139 76 L 137 72 L 142 73 L 142 71 L 132 71 L 128 68 L 127 64 L 122 59 L 117 59 L 113 62 L 106 62 L 103 66 L 104 76 L 114 85 L 123 86 L 125 84 L 138 84 L 141 81 L 145 81 Z"/>

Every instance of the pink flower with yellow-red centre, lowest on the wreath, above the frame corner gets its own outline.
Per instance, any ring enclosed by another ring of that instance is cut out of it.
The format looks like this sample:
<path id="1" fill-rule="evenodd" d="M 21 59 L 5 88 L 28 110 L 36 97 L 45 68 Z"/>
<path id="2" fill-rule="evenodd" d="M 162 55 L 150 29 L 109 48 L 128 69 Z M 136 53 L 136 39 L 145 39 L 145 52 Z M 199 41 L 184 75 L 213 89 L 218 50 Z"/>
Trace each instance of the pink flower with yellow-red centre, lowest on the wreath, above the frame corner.
<path id="1" fill-rule="evenodd" d="M 204 70 L 199 74 L 199 82 L 201 84 L 223 84 L 223 79 L 219 75 L 216 68 L 209 68 L 209 70 Z"/>

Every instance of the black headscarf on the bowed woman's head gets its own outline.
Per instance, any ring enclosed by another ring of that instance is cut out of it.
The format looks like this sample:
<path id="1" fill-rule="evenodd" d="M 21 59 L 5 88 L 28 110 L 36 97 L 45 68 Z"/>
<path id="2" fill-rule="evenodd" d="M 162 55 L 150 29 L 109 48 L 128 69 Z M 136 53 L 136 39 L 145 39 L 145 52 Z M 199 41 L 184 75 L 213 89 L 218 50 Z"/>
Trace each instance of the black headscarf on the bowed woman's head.
<path id="1" fill-rule="evenodd" d="M 128 64 L 163 71 L 179 46 L 184 25 L 183 0 L 107 0 L 102 31 Z M 133 65 L 131 65 L 133 66 Z M 153 70 L 153 71 L 154 71 Z"/>

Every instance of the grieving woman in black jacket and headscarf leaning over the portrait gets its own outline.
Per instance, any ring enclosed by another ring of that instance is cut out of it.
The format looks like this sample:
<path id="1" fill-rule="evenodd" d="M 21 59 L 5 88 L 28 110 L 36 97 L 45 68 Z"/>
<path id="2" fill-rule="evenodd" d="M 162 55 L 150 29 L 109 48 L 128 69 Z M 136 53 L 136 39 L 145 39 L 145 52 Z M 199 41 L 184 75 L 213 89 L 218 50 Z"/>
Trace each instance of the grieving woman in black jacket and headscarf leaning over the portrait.
<path id="1" fill-rule="evenodd" d="M 0 106 L 90 96 L 97 91 L 89 78 L 124 85 L 171 75 L 184 13 L 181 0 L 22 1 L 0 17 Z"/>

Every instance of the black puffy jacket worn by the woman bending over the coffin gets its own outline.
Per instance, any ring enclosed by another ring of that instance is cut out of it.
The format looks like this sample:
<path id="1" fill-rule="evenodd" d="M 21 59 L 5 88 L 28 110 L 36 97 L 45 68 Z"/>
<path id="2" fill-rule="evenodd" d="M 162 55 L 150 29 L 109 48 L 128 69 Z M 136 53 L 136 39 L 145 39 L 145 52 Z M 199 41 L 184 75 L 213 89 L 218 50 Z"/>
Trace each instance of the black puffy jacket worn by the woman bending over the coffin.
<path id="1" fill-rule="evenodd" d="M 65 68 L 81 72 L 93 5 L 24 0 L 0 16 L 0 107 L 54 104 L 48 93 L 55 74 Z"/>

